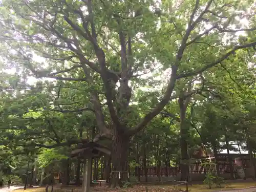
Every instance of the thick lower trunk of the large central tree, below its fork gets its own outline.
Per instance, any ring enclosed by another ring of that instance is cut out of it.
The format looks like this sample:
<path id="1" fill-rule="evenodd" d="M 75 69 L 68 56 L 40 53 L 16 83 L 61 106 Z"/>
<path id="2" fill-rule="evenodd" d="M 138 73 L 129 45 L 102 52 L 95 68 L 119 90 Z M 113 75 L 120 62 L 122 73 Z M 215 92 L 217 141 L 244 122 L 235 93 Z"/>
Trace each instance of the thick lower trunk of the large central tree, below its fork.
<path id="1" fill-rule="evenodd" d="M 112 173 L 111 188 L 122 186 L 122 182 L 127 181 L 127 156 L 130 138 L 126 135 L 115 133 L 112 138 Z"/>

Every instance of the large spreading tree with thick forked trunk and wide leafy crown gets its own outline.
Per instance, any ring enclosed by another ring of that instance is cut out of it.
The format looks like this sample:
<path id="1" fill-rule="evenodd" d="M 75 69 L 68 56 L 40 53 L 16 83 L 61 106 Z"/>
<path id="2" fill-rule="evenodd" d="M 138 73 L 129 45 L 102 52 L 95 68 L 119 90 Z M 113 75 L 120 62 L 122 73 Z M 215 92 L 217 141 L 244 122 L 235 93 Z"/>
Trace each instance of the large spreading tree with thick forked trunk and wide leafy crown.
<path id="1" fill-rule="evenodd" d="M 99 129 L 94 140 L 112 140 L 112 187 L 127 176 L 130 138 L 162 111 L 176 81 L 197 76 L 239 49 L 256 46 L 254 13 L 249 9 L 253 1 L 157 5 L 154 1 L 13 0 L 2 4 L 1 54 L 6 67 L 17 69 L 19 79 L 13 86 L 20 86 L 28 76 L 47 77 L 58 80 L 53 83 L 59 87 L 56 100 L 70 94 L 61 94 L 61 88 L 71 89 L 71 84 L 83 93 L 83 98 L 74 96 L 83 102 L 69 104 L 68 110 L 92 111 Z M 239 24 L 239 18 L 249 19 L 249 25 Z M 239 31 L 248 32 L 243 42 L 236 40 Z M 161 71 L 171 69 L 163 94 L 151 111 L 136 116 L 132 112 L 137 108 L 131 105 L 136 89 L 156 86 L 152 77 L 141 74 L 158 66 Z M 44 86 L 49 84 L 45 81 Z M 60 102 L 47 98 L 42 102 L 44 110 L 65 111 Z"/>

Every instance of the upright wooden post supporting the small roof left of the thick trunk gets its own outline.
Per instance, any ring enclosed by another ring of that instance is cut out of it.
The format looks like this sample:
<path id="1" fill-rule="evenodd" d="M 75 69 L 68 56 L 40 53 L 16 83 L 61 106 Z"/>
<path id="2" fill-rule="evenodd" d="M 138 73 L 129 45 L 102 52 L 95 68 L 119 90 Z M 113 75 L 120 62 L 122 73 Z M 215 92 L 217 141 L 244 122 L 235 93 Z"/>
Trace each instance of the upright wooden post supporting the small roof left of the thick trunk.
<path id="1" fill-rule="evenodd" d="M 92 157 L 84 159 L 82 192 L 90 192 Z"/>

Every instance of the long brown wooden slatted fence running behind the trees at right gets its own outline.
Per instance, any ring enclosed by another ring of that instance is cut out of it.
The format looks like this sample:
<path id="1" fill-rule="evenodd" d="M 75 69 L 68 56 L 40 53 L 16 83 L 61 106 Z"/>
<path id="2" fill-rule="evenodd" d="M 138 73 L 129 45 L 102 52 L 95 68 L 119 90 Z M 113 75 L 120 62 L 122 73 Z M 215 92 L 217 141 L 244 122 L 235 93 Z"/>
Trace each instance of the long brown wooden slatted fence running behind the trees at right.
<path id="1" fill-rule="evenodd" d="M 230 173 L 230 165 L 229 162 L 219 162 L 220 174 L 228 174 Z M 232 168 L 236 166 L 232 161 Z M 243 160 L 244 168 L 248 168 L 250 166 L 250 162 L 248 159 Z M 215 164 L 209 165 L 209 168 L 212 172 L 217 173 L 217 166 Z M 206 167 L 201 165 L 201 163 L 193 163 L 189 166 L 190 174 L 206 174 Z M 158 174 L 159 173 L 159 174 Z M 147 177 L 176 177 L 181 173 L 180 166 L 172 166 L 172 167 L 147 167 Z M 135 176 L 145 176 L 143 167 L 136 167 L 134 170 Z"/>

